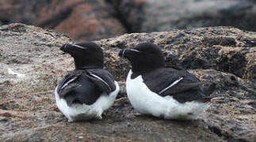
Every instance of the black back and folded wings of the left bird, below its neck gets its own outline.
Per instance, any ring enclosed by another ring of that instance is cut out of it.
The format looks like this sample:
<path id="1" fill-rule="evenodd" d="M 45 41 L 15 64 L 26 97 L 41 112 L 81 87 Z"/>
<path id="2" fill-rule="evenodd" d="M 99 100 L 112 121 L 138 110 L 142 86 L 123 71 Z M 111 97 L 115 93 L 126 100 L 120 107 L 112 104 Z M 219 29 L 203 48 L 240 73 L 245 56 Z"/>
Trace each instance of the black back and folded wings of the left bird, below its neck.
<path id="1" fill-rule="evenodd" d="M 57 92 L 60 98 L 66 99 L 68 106 L 73 103 L 91 105 L 102 92 L 109 94 L 115 89 L 113 76 L 105 69 L 75 69 L 63 77 Z"/>

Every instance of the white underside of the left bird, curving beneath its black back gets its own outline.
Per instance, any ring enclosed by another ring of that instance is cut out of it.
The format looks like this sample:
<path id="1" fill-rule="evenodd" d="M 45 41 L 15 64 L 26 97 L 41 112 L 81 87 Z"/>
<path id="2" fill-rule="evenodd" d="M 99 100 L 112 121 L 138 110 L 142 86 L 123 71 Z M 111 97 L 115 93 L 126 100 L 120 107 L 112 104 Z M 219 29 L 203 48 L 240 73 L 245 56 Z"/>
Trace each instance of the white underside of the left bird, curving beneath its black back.
<path id="1" fill-rule="evenodd" d="M 57 88 L 55 88 L 55 101 L 59 110 L 68 118 L 68 121 L 86 121 L 91 118 L 99 117 L 101 114 L 108 110 L 109 107 L 113 106 L 113 103 L 117 97 L 120 90 L 117 81 L 115 81 L 116 90 L 111 92 L 109 95 L 103 93 L 92 105 L 86 104 L 73 104 L 71 107 L 67 106 L 66 99 L 60 99 L 57 93 Z"/>

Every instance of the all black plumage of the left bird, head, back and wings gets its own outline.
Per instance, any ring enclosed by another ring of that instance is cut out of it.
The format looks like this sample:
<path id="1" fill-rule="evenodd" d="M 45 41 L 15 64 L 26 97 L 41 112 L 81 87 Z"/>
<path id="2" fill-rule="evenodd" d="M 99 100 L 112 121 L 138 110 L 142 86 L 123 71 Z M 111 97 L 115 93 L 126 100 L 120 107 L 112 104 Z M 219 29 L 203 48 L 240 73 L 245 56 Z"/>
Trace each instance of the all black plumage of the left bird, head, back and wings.
<path id="1" fill-rule="evenodd" d="M 67 105 L 91 105 L 105 92 L 116 89 L 111 73 L 103 69 L 103 53 L 95 43 L 64 44 L 60 48 L 75 59 L 75 70 L 67 73 L 58 84 L 59 98 Z"/>

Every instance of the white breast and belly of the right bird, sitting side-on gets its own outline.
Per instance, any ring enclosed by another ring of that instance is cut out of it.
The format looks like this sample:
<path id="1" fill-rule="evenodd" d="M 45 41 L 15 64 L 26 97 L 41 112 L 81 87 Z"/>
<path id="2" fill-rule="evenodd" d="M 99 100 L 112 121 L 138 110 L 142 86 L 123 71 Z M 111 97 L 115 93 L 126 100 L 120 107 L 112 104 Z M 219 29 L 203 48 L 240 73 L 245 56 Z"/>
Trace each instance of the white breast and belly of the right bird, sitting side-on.
<path id="1" fill-rule="evenodd" d="M 126 80 L 128 99 L 132 107 L 141 114 L 166 119 L 193 119 L 208 108 L 206 103 L 178 103 L 172 96 L 162 97 L 147 88 L 141 75 L 134 79 L 131 79 L 131 76 L 132 70 L 129 71 Z"/>

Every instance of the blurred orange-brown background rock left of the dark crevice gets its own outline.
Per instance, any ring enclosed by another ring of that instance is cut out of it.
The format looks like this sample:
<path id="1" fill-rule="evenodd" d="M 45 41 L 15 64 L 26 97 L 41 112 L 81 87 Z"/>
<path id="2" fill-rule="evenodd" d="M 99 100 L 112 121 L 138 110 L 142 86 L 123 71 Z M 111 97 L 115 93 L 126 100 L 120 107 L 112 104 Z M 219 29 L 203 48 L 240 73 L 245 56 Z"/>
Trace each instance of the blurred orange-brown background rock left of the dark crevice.
<path id="1" fill-rule="evenodd" d="M 52 28 L 77 41 L 102 39 L 125 32 L 122 24 L 108 13 L 109 9 L 101 0 L 2 1 L 0 21 Z"/>

